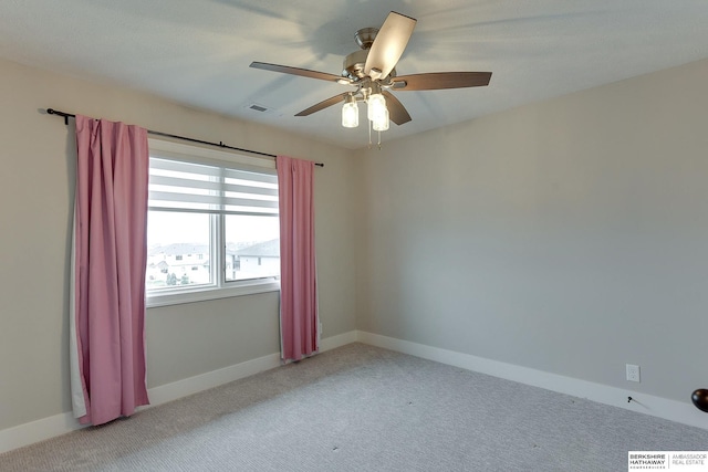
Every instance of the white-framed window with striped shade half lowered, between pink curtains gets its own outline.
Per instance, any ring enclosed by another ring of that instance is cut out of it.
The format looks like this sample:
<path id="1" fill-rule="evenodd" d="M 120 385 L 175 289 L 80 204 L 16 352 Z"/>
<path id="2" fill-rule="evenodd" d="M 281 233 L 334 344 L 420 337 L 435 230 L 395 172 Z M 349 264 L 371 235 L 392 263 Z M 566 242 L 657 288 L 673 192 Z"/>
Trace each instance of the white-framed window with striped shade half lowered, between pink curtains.
<path id="1" fill-rule="evenodd" d="M 149 139 L 148 306 L 279 289 L 274 161 Z"/>

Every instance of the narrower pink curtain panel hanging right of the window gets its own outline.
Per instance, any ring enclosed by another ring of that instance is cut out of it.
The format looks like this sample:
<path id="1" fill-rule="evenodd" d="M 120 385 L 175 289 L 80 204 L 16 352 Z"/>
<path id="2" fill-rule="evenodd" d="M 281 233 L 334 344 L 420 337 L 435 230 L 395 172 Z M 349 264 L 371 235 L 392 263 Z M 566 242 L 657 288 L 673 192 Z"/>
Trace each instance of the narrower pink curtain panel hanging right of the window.
<path id="1" fill-rule="evenodd" d="M 280 331 L 282 358 L 300 360 L 317 346 L 314 259 L 314 162 L 278 156 Z"/>

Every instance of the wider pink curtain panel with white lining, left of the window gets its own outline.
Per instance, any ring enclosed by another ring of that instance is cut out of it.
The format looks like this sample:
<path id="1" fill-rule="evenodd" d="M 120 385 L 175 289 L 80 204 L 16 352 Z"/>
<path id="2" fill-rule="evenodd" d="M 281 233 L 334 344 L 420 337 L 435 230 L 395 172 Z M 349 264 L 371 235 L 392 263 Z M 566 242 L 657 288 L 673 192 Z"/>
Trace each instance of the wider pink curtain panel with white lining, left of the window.
<path id="1" fill-rule="evenodd" d="M 148 403 L 147 130 L 76 115 L 76 147 L 72 400 L 102 424 Z"/>

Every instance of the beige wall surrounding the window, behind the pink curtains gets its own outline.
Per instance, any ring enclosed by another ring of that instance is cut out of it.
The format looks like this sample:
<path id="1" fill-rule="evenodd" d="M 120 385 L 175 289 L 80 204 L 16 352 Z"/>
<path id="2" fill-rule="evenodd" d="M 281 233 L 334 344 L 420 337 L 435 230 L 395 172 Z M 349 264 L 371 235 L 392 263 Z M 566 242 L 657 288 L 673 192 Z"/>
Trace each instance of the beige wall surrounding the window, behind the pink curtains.
<path id="1" fill-rule="evenodd" d="M 0 61 L 0 430 L 71 409 L 67 289 L 74 187 L 71 113 L 269 154 L 316 169 L 316 250 L 324 337 L 355 327 L 351 153 L 260 125 Z M 277 293 L 148 310 L 148 387 L 279 350 Z"/>

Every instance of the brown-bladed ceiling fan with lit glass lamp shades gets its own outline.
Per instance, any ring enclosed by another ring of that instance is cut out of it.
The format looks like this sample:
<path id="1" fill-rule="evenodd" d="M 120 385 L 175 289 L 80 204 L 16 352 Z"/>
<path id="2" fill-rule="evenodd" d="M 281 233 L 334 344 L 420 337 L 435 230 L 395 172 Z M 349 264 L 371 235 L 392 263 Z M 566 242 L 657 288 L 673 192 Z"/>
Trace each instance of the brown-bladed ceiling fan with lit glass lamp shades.
<path id="1" fill-rule="evenodd" d="M 366 102 L 367 118 L 374 130 L 378 132 L 388 129 L 389 119 L 396 125 L 403 125 L 412 119 L 403 104 L 389 92 L 392 90 L 435 91 L 489 85 L 491 72 L 397 75 L 396 64 L 408 44 L 415 25 L 415 19 L 392 11 L 381 30 L 376 28 L 358 30 L 354 38 L 361 50 L 344 57 L 341 75 L 264 62 L 252 62 L 250 66 L 356 87 L 354 92 L 337 94 L 303 109 L 295 116 L 308 116 L 343 102 L 342 125 L 356 127 L 358 126 L 356 103 Z"/>

